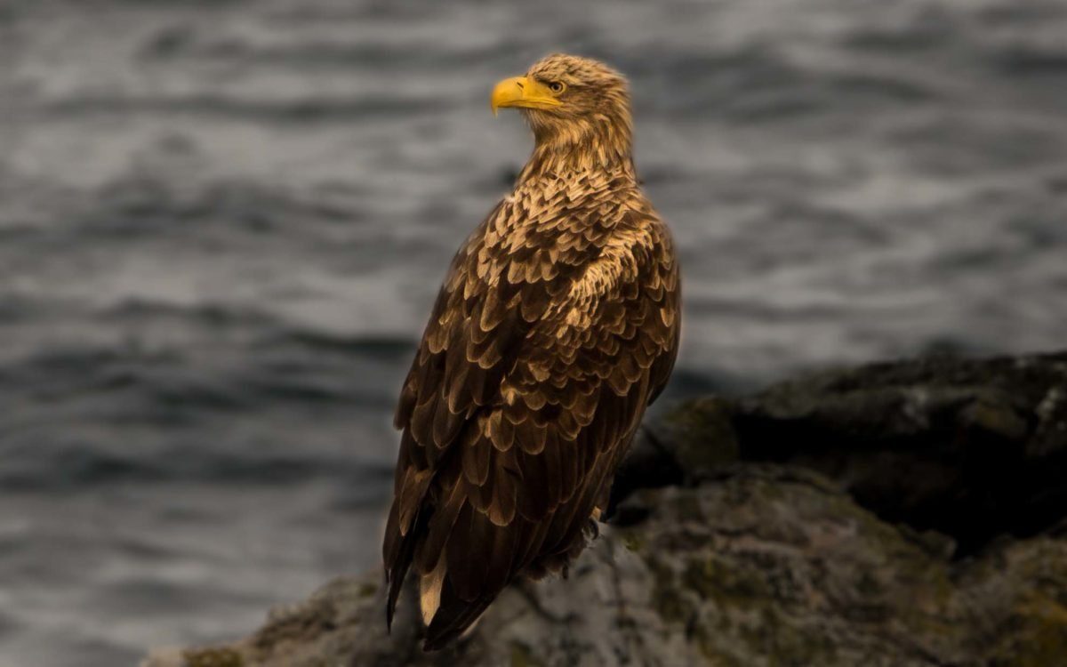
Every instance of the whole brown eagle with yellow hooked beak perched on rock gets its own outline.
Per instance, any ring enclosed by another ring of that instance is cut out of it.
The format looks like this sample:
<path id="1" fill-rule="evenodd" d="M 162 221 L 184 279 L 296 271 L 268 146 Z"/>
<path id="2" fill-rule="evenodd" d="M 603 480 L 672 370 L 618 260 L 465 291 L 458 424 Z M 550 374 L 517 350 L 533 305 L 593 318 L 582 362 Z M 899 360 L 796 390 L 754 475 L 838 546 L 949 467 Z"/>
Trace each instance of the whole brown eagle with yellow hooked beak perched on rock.
<path id="1" fill-rule="evenodd" d="M 423 648 L 513 581 L 566 576 L 674 366 L 673 242 L 642 193 L 623 75 L 552 54 L 497 83 L 535 147 L 448 269 L 400 392 L 383 543 L 389 628 L 418 582 Z"/>

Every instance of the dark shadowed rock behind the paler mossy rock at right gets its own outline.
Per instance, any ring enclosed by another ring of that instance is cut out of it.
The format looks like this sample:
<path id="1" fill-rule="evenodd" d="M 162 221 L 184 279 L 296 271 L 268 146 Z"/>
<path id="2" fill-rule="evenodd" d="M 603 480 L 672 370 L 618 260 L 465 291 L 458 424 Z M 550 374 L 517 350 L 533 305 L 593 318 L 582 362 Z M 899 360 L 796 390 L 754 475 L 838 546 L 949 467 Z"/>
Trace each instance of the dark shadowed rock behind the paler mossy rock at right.
<path id="1" fill-rule="evenodd" d="M 653 430 L 724 419 L 739 460 L 819 471 L 886 519 L 952 535 L 961 555 L 1067 515 L 1067 353 L 825 371 L 694 401 Z M 672 451 L 700 470 L 691 449 Z"/>

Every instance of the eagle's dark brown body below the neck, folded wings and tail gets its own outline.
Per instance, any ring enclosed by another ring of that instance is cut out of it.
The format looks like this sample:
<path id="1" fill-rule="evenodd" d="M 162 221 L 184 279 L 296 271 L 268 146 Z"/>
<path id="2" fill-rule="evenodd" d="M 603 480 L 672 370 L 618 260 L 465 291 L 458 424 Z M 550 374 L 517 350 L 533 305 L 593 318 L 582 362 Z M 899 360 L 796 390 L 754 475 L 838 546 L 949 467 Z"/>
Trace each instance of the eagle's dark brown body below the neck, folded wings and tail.
<path id="1" fill-rule="evenodd" d="M 678 267 L 651 211 L 626 211 L 599 242 L 550 229 L 500 244 L 506 212 L 453 259 L 397 408 L 387 616 L 414 565 L 427 648 L 516 573 L 580 551 L 678 351 Z"/>

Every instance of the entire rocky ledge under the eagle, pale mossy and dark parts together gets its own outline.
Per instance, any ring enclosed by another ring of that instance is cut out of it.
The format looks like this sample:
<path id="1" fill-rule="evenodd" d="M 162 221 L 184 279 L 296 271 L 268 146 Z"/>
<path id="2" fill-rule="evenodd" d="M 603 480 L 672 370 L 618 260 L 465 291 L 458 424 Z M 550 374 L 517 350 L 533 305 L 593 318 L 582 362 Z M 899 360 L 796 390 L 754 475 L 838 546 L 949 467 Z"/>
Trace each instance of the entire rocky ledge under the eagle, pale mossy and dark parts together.
<path id="1" fill-rule="evenodd" d="M 1067 353 L 826 371 L 651 424 L 567 579 L 424 654 L 381 574 L 147 667 L 1067 661 Z"/>

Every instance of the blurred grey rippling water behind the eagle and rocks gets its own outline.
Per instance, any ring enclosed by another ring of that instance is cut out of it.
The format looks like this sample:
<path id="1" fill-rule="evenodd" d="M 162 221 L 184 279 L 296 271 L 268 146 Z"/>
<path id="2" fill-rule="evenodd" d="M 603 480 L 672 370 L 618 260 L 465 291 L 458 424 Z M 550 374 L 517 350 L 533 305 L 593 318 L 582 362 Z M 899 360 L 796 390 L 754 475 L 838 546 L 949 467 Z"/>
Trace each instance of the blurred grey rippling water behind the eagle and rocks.
<path id="1" fill-rule="evenodd" d="M 631 75 L 675 396 L 1062 347 L 1067 4 L 0 0 L 0 664 L 133 664 L 375 567 L 393 401 L 529 149 Z"/>

